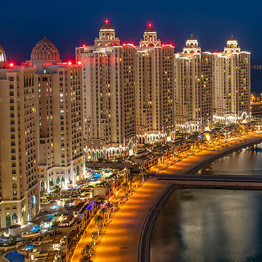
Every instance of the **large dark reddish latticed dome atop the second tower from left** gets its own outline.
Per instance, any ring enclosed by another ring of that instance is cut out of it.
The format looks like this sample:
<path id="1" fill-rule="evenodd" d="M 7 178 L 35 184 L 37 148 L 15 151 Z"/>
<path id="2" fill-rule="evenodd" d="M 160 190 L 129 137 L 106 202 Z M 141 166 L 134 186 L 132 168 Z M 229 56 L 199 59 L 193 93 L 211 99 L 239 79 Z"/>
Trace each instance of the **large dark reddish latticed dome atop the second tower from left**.
<path id="1" fill-rule="evenodd" d="M 59 60 L 57 47 L 47 38 L 40 40 L 31 52 L 31 60 Z"/>

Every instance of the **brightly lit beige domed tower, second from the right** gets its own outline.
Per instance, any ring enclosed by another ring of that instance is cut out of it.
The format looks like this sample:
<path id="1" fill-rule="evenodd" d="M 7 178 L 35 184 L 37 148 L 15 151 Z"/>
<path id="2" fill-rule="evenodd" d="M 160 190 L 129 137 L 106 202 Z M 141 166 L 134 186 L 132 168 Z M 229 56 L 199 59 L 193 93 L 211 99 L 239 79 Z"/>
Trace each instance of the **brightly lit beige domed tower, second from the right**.
<path id="1" fill-rule="evenodd" d="M 212 54 L 202 52 L 191 36 L 182 53 L 175 54 L 175 124 L 178 132 L 213 127 Z"/>

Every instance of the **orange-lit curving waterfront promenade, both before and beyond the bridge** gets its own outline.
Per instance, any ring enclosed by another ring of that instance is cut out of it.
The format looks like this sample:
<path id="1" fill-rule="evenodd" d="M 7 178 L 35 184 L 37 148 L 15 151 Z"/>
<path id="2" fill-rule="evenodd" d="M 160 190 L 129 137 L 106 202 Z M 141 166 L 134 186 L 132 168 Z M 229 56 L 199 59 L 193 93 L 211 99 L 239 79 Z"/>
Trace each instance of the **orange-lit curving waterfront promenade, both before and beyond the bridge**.
<path id="1" fill-rule="evenodd" d="M 172 164 L 172 162 L 166 163 L 166 166 L 163 166 L 164 170 L 161 172 L 165 174 L 191 173 L 225 154 L 259 142 L 262 142 L 262 134 L 230 139 L 227 142 L 213 145 L 213 147 L 208 147 L 201 152 L 185 157 L 171 166 L 169 164 Z M 135 194 L 112 218 L 112 222 L 108 224 L 106 234 L 103 235 L 100 244 L 96 248 L 96 256 L 93 261 L 137 261 L 139 236 L 144 220 L 154 201 L 167 186 L 169 186 L 169 182 L 157 181 L 155 178 L 151 178 L 138 188 Z"/>

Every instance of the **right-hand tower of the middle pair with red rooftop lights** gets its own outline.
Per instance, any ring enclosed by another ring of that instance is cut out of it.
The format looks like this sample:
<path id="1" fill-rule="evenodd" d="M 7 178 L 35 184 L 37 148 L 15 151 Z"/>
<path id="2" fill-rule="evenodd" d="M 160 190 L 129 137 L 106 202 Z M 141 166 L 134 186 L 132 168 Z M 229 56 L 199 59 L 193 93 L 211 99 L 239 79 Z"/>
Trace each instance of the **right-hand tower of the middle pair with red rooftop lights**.
<path id="1" fill-rule="evenodd" d="M 136 123 L 139 144 L 174 137 L 173 46 L 161 45 L 149 24 L 135 48 Z"/>

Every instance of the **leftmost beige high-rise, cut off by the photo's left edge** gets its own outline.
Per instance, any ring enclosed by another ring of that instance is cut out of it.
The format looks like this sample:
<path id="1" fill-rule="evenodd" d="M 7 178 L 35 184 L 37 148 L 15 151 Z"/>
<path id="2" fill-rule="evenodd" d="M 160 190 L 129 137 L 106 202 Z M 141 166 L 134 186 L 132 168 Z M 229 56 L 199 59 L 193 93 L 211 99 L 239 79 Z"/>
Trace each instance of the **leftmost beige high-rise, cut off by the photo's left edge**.
<path id="1" fill-rule="evenodd" d="M 6 62 L 0 46 L 0 227 L 40 209 L 35 69 Z"/>

